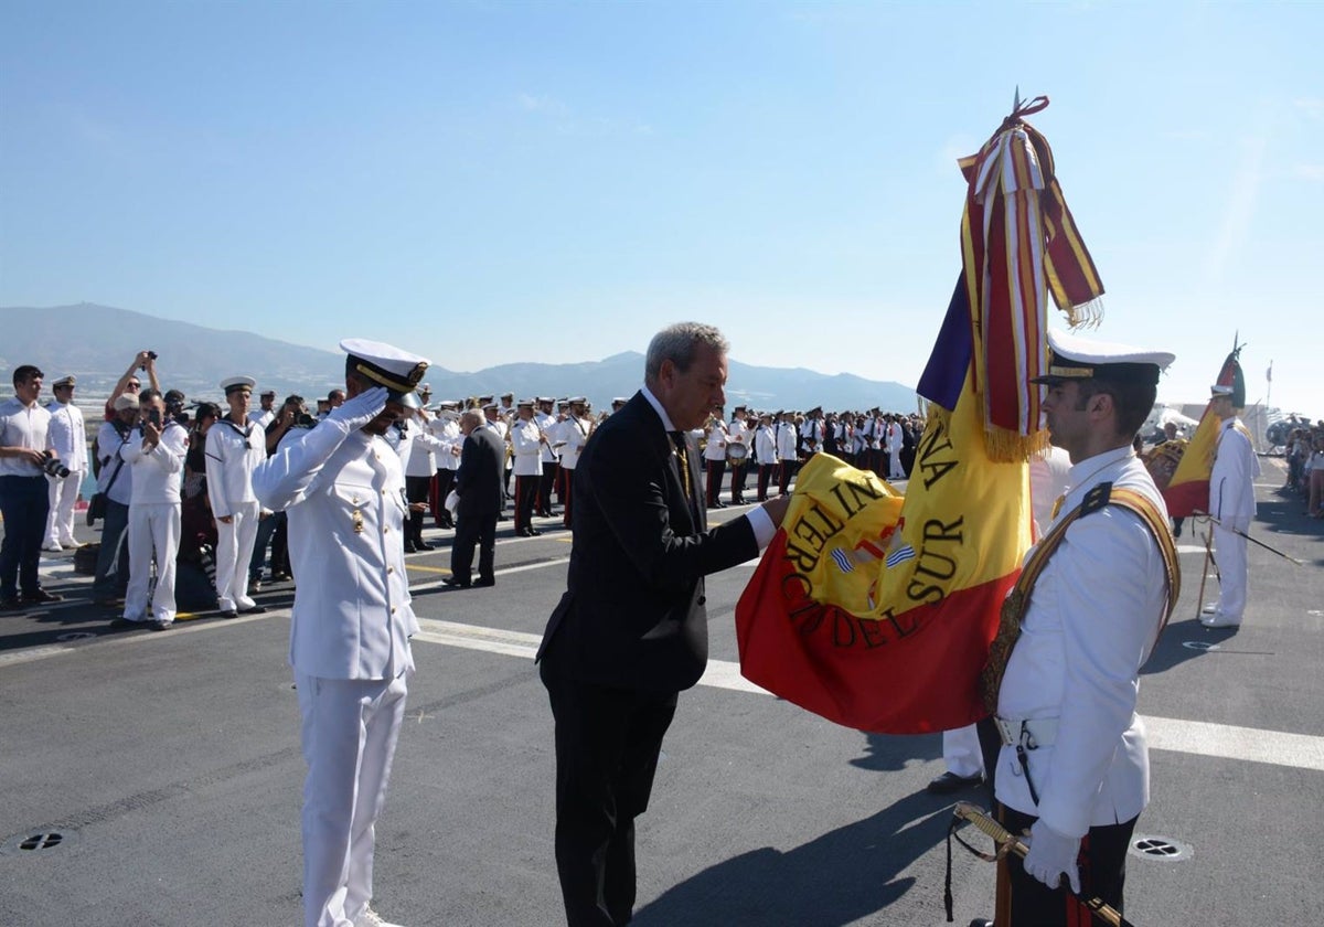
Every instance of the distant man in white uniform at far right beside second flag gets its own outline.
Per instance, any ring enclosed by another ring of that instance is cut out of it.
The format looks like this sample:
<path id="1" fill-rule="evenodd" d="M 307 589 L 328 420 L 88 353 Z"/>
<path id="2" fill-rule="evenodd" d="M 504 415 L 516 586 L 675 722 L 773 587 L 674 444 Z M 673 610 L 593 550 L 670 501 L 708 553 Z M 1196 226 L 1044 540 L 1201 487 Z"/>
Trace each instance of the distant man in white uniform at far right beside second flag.
<path id="1" fill-rule="evenodd" d="M 1200 622 L 1206 628 L 1235 628 L 1246 610 L 1246 538 L 1255 518 L 1255 477 L 1259 458 L 1250 432 L 1233 408 L 1233 388 L 1213 387 L 1210 411 L 1218 416 L 1218 450 L 1209 474 L 1209 514 L 1218 552 L 1218 601 L 1205 605 Z M 1241 534 L 1238 534 L 1241 532 Z"/>

